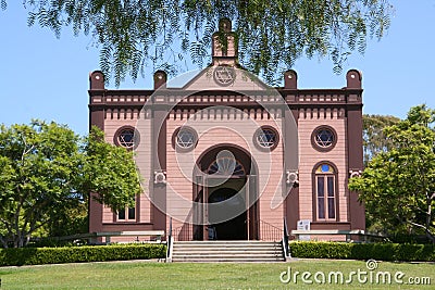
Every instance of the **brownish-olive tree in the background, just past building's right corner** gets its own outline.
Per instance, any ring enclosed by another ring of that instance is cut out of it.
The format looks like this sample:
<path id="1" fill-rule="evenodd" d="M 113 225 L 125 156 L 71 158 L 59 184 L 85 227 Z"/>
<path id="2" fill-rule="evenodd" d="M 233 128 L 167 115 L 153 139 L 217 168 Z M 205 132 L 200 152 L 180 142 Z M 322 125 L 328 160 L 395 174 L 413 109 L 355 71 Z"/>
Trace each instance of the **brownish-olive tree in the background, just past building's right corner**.
<path id="1" fill-rule="evenodd" d="M 397 124 L 400 118 L 383 115 L 363 115 L 362 116 L 362 136 L 364 148 L 364 165 L 369 164 L 380 152 L 386 152 L 391 148 L 389 139 L 385 138 L 384 129 Z"/>

